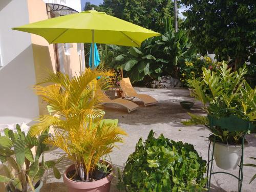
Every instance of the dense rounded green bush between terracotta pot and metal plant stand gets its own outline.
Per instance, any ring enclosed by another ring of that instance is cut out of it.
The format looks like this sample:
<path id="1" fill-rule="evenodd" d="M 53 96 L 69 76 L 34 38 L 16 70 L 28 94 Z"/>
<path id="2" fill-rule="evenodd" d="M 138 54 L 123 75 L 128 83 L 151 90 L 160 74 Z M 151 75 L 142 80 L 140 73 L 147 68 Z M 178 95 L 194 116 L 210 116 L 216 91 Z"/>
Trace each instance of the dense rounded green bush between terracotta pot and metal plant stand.
<path id="1" fill-rule="evenodd" d="M 192 144 L 175 142 L 151 131 L 140 138 L 123 171 L 128 191 L 202 191 L 206 161 Z"/>

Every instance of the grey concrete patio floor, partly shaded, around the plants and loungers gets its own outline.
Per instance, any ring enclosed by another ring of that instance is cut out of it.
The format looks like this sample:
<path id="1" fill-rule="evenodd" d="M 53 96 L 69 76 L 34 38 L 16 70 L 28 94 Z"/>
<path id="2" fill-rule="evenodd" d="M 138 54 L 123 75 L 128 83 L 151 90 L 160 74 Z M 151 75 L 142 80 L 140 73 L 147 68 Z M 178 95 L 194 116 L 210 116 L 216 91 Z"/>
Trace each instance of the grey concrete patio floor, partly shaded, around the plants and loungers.
<path id="1" fill-rule="evenodd" d="M 186 89 L 146 89 L 137 88 L 138 93 L 148 94 L 156 98 L 159 102 L 153 106 L 144 107 L 142 102 L 135 100 L 140 108 L 137 111 L 128 114 L 127 111 L 119 105 L 106 105 L 105 106 L 105 118 L 118 119 L 119 125 L 127 132 L 128 136 L 125 137 L 125 143 L 119 144 L 120 149 L 115 148 L 111 154 L 111 160 L 114 167 L 124 167 L 124 163 L 128 156 L 134 152 L 135 145 L 139 138 L 146 139 L 148 133 L 154 130 L 156 136 L 161 133 L 169 139 L 175 141 L 183 141 L 191 143 L 195 146 L 199 154 L 202 155 L 204 160 L 207 160 L 207 137 L 209 131 L 203 126 L 184 126 L 180 123 L 181 120 L 189 119 L 187 111 L 183 110 L 179 104 L 180 101 L 195 101 L 194 98 L 189 97 L 189 92 Z M 195 101 L 194 107 L 190 110 L 192 113 L 203 113 L 201 110 L 201 104 Z M 244 162 L 253 163 L 248 159 L 249 156 L 256 156 L 256 135 L 247 136 L 248 146 L 245 148 Z M 55 150 L 47 154 L 48 159 L 56 159 L 57 156 L 62 154 L 61 151 Z M 63 174 L 66 167 L 71 164 L 67 159 L 58 164 L 58 168 Z M 215 171 L 220 171 L 216 165 Z M 117 173 L 117 172 L 116 172 Z M 237 170 L 230 172 L 238 174 Z M 256 191 L 256 181 L 249 184 L 250 178 L 256 173 L 256 168 L 250 168 L 244 166 L 244 180 L 243 191 L 254 192 Z M 45 175 L 44 186 L 40 190 L 41 192 L 56 192 L 67 191 L 62 178 L 56 180 L 52 172 Z M 212 176 L 212 189 L 211 191 L 238 191 L 238 182 L 231 176 L 217 174 Z M 119 191 L 116 188 L 117 177 L 114 178 L 111 186 L 111 192 Z"/>

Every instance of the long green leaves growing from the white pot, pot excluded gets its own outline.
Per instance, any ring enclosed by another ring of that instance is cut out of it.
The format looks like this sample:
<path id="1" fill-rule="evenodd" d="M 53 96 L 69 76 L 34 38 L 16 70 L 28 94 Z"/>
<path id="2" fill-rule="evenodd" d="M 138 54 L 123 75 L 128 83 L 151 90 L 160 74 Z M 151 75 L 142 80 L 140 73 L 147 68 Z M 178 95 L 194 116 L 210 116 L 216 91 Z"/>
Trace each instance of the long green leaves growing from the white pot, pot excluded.
<path id="1" fill-rule="evenodd" d="M 252 89 L 244 79 L 247 73 L 246 66 L 232 72 L 227 64 L 222 62 L 215 71 L 206 68 L 202 70 L 202 77 L 190 80 L 189 85 L 193 88 L 193 95 L 203 103 L 203 109 L 208 115 L 218 119 L 233 115 L 255 121 L 256 89 Z M 191 119 L 183 121 L 183 124 L 206 125 L 222 143 L 240 144 L 246 133 L 246 131 L 225 130 L 220 126 L 209 126 L 207 116 L 189 115 Z"/>

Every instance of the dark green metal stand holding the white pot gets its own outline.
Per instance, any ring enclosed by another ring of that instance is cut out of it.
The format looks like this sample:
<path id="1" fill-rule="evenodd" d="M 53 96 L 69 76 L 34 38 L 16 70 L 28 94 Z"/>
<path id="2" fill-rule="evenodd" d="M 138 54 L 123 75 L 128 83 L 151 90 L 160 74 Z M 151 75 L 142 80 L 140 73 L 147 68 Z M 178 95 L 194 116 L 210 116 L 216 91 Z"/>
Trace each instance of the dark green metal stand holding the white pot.
<path id="1" fill-rule="evenodd" d="M 239 174 L 238 176 L 230 174 L 228 172 L 213 172 L 213 163 L 214 163 L 214 151 L 215 151 L 215 144 L 216 144 L 216 136 L 212 134 L 212 141 L 209 140 L 208 142 L 208 163 L 207 163 L 207 178 L 208 181 L 206 183 L 208 191 L 210 191 L 210 183 L 211 183 L 211 176 L 214 174 L 226 174 L 233 176 L 234 178 L 238 179 L 238 191 L 242 191 L 242 184 L 243 184 L 243 157 L 244 157 L 244 142 L 245 142 L 245 136 L 246 131 L 250 130 L 250 127 L 253 127 L 253 125 L 250 123 L 249 120 L 241 119 L 237 116 L 230 115 L 229 117 L 222 117 L 222 118 L 214 118 L 210 115 L 208 115 L 209 119 L 209 126 L 219 126 L 223 130 L 228 131 L 245 131 L 245 134 L 242 138 L 242 156 L 240 163 L 238 164 L 239 167 Z M 211 143 L 212 143 L 212 150 L 211 150 Z"/>

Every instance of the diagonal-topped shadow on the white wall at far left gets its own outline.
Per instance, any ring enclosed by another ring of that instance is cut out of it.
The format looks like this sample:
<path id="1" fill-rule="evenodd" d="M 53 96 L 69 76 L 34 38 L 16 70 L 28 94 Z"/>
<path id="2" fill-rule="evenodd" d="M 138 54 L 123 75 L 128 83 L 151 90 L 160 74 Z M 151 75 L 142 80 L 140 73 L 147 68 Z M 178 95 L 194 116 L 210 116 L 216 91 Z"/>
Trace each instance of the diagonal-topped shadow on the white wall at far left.
<path id="1" fill-rule="evenodd" d="M 0 69 L 0 124 L 30 122 L 38 116 L 38 100 L 33 93 L 35 70 L 27 47 Z"/>

